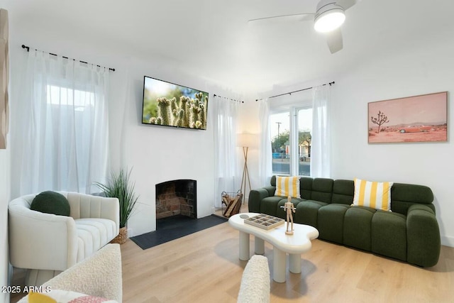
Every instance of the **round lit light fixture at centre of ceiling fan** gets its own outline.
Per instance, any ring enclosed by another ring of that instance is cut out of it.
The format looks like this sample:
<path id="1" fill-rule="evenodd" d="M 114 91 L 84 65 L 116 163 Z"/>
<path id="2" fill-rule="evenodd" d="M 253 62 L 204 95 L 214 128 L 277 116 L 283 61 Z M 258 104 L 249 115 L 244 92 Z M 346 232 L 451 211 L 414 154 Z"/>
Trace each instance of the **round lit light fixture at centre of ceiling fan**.
<path id="1" fill-rule="evenodd" d="M 341 26 L 343 21 L 345 21 L 345 13 L 342 6 L 335 1 L 320 1 L 314 18 L 316 31 L 328 33 Z"/>

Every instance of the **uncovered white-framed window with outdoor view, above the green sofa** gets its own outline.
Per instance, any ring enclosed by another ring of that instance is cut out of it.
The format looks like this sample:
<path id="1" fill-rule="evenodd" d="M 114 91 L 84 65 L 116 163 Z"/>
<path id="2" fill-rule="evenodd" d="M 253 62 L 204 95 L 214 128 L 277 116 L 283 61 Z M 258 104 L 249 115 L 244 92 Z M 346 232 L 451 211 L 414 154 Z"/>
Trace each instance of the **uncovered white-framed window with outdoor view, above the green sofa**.
<path id="1" fill-rule="evenodd" d="M 311 106 L 292 106 L 270 115 L 274 175 L 310 175 L 311 130 Z"/>

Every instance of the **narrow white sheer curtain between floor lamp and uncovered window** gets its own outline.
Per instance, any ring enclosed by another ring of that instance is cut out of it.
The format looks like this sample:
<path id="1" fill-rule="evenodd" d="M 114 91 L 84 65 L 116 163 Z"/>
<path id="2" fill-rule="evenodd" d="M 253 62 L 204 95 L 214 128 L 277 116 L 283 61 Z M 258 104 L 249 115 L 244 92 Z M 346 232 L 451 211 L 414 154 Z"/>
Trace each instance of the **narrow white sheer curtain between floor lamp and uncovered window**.
<path id="1" fill-rule="evenodd" d="M 270 104 L 268 99 L 259 100 L 260 140 L 258 149 L 258 177 L 260 186 L 270 185 L 272 176 L 272 150 L 270 135 Z"/>

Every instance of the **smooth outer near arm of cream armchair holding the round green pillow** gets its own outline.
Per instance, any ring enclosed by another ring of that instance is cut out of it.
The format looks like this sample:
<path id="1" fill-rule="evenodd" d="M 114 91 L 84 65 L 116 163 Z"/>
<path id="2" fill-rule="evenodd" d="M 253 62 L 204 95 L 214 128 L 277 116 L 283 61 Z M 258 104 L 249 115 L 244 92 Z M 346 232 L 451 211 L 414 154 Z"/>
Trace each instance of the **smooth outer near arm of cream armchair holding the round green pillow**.
<path id="1" fill-rule="evenodd" d="M 74 265 L 77 258 L 74 219 L 33 211 L 18 199 L 17 204 L 8 208 L 11 265 L 40 270 L 65 270 Z"/>

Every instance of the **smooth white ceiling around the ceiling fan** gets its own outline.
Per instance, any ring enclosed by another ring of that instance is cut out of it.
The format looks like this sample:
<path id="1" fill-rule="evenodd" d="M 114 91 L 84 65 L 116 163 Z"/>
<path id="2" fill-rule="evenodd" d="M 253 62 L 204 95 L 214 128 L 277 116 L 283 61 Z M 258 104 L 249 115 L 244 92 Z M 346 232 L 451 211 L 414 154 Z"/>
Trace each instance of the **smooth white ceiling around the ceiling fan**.
<path id="1" fill-rule="evenodd" d="M 245 94 L 336 80 L 377 57 L 454 37 L 452 0 L 362 0 L 346 11 L 344 47 L 333 55 L 312 21 L 248 23 L 313 12 L 317 2 L 0 0 L 0 5 L 9 10 L 10 33 L 22 38 L 33 40 L 35 31 L 43 31 L 54 43 L 92 44 L 96 50 L 109 48 L 143 60 L 162 57 L 189 74 Z"/>

